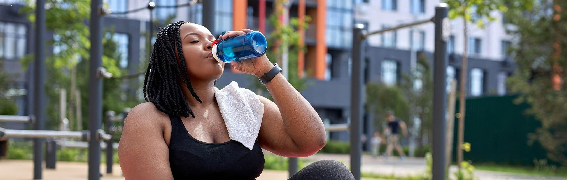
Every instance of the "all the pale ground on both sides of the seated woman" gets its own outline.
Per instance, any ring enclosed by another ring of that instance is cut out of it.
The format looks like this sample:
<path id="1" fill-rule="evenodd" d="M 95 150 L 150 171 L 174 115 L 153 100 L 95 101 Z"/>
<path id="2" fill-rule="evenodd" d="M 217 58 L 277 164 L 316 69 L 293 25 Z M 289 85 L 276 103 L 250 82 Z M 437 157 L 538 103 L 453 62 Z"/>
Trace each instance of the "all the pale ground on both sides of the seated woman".
<path id="1" fill-rule="evenodd" d="M 337 160 L 341 161 L 347 166 L 350 166 L 349 155 L 338 154 L 315 154 L 310 157 L 304 158 L 307 163 L 318 160 Z M 45 169 L 43 179 L 46 180 L 67 180 L 67 179 L 87 179 L 87 164 L 85 162 L 57 162 L 57 169 Z M 425 172 L 424 158 L 373 158 L 369 155 L 362 156 L 362 172 L 382 174 L 382 175 L 396 175 L 404 177 L 407 175 L 420 175 Z M 113 174 L 105 174 L 106 165 L 100 165 L 100 170 L 103 172 L 101 179 L 124 179 L 120 170 L 120 164 L 113 166 Z M 456 167 L 451 167 L 451 173 L 456 171 Z M 486 170 L 475 170 L 475 175 L 479 179 L 494 179 L 494 180 L 514 180 L 514 179 L 552 179 L 559 180 L 565 179 L 561 177 L 536 177 L 532 175 L 510 174 L 501 172 L 492 172 Z M 32 179 L 33 178 L 33 162 L 31 160 L 0 160 L 0 180 L 12 179 Z M 273 179 L 287 179 L 287 171 L 285 170 L 269 170 L 264 169 L 264 172 L 257 180 L 273 180 Z M 372 180 L 373 178 L 362 178 L 364 180 Z"/>

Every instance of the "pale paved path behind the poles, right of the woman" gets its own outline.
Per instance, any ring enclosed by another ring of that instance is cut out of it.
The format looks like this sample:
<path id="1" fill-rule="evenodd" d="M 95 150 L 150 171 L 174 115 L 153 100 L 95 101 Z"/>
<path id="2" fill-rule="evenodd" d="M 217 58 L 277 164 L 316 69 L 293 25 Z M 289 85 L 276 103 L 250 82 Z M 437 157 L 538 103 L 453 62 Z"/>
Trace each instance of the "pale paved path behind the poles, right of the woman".
<path id="1" fill-rule="evenodd" d="M 318 160 L 337 160 L 344 162 L 350 166 L 350 155 L 348 154 L 324 154 L 317 153 L 313 156 L 305 157 L 307 162 Z M 391 158 L 373 158 L 371 155 L 362 155 L 361 170 L 363 173 L 395 175 L 397 177 L 405 177 L 407 175 L 421 175 L 425 173 L 425 158 L 407 157 L 400 160 L 398 157 Z M 451 166 L 450 173 L 453 174 L 457 170 L 456 166 Z M 561 180 L 562 177 L 536 177 L 533 175 L 510 174 L 501 172 L 492 172 L 488 170 L 475 170 L 475 176 L 479 179 L 490 180 L 523 180 L 523 179 L 552 179 Z"/>

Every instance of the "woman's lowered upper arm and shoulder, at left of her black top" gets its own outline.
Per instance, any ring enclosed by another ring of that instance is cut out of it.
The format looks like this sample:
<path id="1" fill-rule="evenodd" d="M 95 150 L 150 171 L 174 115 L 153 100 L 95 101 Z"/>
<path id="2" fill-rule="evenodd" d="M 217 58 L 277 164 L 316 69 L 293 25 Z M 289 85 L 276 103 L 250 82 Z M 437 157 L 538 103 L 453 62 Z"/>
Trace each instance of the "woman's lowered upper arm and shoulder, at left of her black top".
<path id="1" fill-rule="evenodd" d="M 160 118 L 163 114 L 150 102 L 128 113 L 118 149 L 126 179 L 173 179 Z"/>

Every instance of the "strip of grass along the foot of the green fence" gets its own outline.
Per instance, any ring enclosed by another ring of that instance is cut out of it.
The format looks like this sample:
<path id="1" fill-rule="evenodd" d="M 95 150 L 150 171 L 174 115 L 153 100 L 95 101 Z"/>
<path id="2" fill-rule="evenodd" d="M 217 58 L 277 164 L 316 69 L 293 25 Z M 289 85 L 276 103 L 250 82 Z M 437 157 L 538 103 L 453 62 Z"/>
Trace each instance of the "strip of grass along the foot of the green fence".
<path id="1" fill-rule="evenodd" d="M 536 170 L 533 166 L 513 166 L 499 164 L 475 164 L 475 169 L 489 170 L 493 172 L 539 175 L 539 176 L 556 176 L 567 178 L 567 168 L 557 168 L 556 170 Z"/>

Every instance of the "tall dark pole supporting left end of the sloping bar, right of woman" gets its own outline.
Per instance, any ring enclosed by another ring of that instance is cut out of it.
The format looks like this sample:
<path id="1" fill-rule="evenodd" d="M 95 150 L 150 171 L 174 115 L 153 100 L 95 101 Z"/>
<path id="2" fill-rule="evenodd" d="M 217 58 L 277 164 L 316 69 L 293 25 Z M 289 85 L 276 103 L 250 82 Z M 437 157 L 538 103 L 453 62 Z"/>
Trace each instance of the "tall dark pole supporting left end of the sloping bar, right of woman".
<path id="1" fill-rule="evenodd" d="M 364 57 L 362 41 L 364 25 L 355 24 L 353 28 L 353 50 L 352 50 L 352 80 L 350 82 L 350 171 L 355 179 L 361 178 L 361 132 L 362 132 L 362 88 Z"/>

